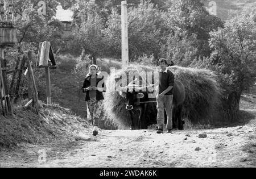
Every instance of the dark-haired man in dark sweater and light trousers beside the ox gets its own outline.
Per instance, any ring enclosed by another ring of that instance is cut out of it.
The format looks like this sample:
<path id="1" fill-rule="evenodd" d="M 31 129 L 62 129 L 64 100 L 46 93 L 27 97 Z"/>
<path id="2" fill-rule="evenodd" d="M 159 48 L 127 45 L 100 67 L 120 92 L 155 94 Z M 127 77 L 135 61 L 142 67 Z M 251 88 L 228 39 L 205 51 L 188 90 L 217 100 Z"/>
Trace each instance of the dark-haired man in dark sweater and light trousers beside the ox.
<path id="1" fill-rule="evenodd" d="M 167 69 L 167 60 L 160 59 L 158 61 L 160 66 L 159 71 L 159 93 L 156 95 L 156 102 L 158 109 L 157 122 L 158 122 L 158 134 L 163 133 L 164 127 L 164 110 L 167 114 L 167 131 L 171 133 L 172 129 L 172 100 L 173 100 L 173 88 L 174 88 L 174 74 Z"/>

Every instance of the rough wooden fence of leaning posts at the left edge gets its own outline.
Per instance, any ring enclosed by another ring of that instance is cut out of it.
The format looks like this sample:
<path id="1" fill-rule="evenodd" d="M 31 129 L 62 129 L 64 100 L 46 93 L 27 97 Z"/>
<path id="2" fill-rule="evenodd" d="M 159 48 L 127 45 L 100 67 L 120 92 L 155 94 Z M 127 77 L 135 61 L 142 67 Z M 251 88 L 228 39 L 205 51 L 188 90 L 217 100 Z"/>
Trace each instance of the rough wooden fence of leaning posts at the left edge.
<path id="1" fill-rule="evenodd" d="M 2 53 L 2 52 L 1 52 Z M 3 54 L 1 55 L 3 57 Z M 23 52 L 21 59 L 16 60 L 15 69 L 10 69 L 7 67 L 7 61 L 1 58 L 0 63 L 0 103 L 1 103 L 1 113 L 2 115 L 12 115 L 13 114 L 13 104 L 19 98 L 20 95 L 20 86 L 23 85 L 23 81 L 27 80 L 28 82 L 28 103 L 24 106 L 27 107 L 32 103 L 32 106 L 35 107 L 36 113 L 39 114 L 39 104 L 38 104 L 38 90 L 36 88 L 34 70 L 31 64 L 32 55 L 31 51 Z M 22 78 L 22 73 L 27 77 L 27 79 Z M 10 84 L 7 79 L 7 74 L 13 74 Z M 16 84 L 15 84 L 16 82 Z M 13 99 L 13 100 L 11 100 Z"/>

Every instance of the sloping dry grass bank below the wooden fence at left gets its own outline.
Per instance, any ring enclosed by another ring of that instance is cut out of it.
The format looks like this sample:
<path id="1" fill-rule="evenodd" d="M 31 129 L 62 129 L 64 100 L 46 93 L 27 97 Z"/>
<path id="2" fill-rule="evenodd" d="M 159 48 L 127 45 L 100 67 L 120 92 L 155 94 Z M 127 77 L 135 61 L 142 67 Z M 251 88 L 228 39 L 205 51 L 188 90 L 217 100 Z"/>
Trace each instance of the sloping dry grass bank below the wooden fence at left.
<path id="1" fill-rule="evenodd" d="M 27 99 L 14 106 L 14 115 L 0 115 L 0 151 L 16 148 L 20 143 L 48 144 L 60 140 L 75 140 L 74 135 L 88 130 L 88 122 L 75 116 L 71 110 L 56 103 L 45 105 L 40 102 L 40 116 L 29 106 Z"/>

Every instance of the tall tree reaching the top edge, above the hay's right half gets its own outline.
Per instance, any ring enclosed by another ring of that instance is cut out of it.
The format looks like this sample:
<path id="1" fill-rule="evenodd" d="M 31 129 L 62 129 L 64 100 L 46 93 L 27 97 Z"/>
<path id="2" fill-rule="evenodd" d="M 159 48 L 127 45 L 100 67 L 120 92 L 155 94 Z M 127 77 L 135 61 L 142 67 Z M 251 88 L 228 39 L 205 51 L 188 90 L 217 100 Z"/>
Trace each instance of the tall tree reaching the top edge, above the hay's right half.
<path id="1" fill-rule="evenodd" d="M 223 27 L 220 18 L 210 15 L 200 0 L 170 0 L 167 23 L 178 27 L 189 36 L 195 34 L 199 41 L 193 44 L 198 49 L 197 56 L 210 56 L 209 32 Z"/>

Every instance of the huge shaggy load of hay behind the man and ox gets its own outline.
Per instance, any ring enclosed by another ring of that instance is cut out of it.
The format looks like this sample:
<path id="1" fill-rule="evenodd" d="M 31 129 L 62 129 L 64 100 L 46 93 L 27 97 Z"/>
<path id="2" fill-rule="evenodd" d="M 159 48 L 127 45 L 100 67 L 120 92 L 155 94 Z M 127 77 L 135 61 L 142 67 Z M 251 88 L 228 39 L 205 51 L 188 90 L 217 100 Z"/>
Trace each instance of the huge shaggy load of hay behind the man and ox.
<path id="1" fill-rule="evenodd" d="M 221 115 L 221 89 L 216 82 L 216 76 L 210 70 L 182 68 L 179 66 L 168 67 L 174 73 L 175 79 L 183 82 L 185 86 L 185 102 L 183 118 L 192 124 L 212 123 Z M 123 73 L 138 72 L 139 74 L 158 72 L 157 66 L 130 65 L 126 70 L 117 70 L 106 81 L 108 89 L 117 86 L 118 76 Z M 152 77 L 154 84 L 154 75 Z M 128 80 L 127 80 L 128 81 Z M 140 84 L 142 84 L 140 78 Z M 156 103 L 148 103 L 146 119 L 156 123 Z M 104 100 L 105 113 L 108 118 L 119 125 L 119 128 L 128 128 L 130 124 L 129 112 L 126 110 L 125 99 L 118 91 L 107 91 Z"/>

